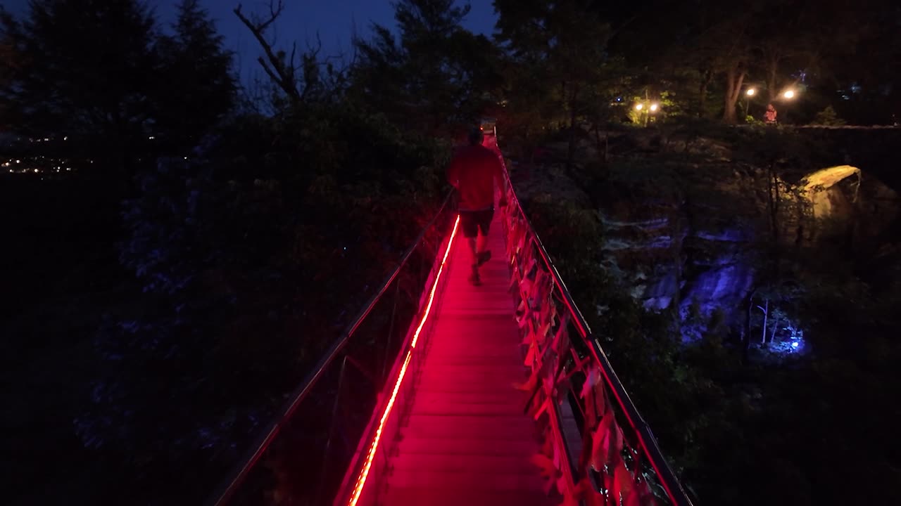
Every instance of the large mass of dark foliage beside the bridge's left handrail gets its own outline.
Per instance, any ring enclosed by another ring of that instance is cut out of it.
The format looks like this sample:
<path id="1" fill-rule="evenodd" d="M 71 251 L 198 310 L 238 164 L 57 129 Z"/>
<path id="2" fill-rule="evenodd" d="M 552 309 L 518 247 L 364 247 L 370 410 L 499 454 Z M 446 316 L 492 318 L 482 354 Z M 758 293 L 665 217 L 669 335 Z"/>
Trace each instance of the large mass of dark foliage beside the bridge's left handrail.
<path id="1" fill-rule="evenodd" d="M 100 331 L 105 374 L 77 429 L 96 451 L 141 456 L 135 488 L 181 483 L 187 465 L 189 493 L 208 493 L 237 457 L 222 449 L 271 416 L 435 209 L 440 146 L 352 108 L 304 117 L 318 130 L 250 119 L 160 159 L 125 204 L 122 261 L 153 309 Z M 163 404 L 181 416 L 160 420 Z"/>

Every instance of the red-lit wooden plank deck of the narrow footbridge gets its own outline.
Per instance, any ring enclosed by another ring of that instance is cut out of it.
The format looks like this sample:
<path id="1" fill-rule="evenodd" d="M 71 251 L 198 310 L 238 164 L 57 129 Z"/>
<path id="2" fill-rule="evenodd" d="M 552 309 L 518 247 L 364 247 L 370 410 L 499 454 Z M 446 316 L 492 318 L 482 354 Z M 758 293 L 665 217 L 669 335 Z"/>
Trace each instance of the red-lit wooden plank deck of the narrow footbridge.
<path id="1" fill-rule="evenodd" d="M 384 506 L 545 506 L 549 499 L 531 458 L 540 437 L 516 390 L 527 371 L 507 292 L 500 212 L 488 237 L 493 257 L 469 285 L 470 258 L 460 236 L 451 251 L 448 285 L 416 378 L 414 402 L 401 429 Z"/>

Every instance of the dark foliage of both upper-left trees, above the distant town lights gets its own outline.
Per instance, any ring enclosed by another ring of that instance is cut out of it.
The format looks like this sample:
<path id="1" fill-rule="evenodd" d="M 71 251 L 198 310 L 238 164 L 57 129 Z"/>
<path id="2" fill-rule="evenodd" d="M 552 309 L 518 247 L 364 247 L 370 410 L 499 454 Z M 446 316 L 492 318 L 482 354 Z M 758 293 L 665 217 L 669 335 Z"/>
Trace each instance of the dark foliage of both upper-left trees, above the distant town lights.
<path id="1" fill-rule="evenodd" d="M 114 173 L 150 136 L 189 149 L 231 110 L 235 84 L 205 10 L 196 0 L 178 9 L 171 35 L 135 0 L 39 0 L 23 20 L 3 13 L 16 59 L 0 104 L 17 131 L 96 142 L 92 157 L 111 158 Z"/>

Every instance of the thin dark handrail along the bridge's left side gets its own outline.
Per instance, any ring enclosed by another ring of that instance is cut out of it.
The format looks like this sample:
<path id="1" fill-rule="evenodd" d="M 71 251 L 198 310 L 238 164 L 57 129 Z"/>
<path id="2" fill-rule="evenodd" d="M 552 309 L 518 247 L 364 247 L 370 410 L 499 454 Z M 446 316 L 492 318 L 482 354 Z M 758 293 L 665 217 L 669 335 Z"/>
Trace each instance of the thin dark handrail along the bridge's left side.
<path id="1" fill-rule="evenodd" d="M 372 312 L 372 309 L 375 307 L 376 303 L 382 298 L 382 296 L 387 292 L 387 288 L 391 285 L 392 282 L 396 279 L 401 269 L 406 265 L 406 262 L 413 255 L 413 252 L 416 247 L 420 245 L 425 237 L 425 234 L 432 228 L 432 225 L 435 221 L 438 220 L 439 216 L 441 216 L 441 212 L 447 207 L 448 203 L 451 202 L 451 196 L 453 195 L 453 191 L 448 192 L 448 194 L 444 197 L 444 200 L 441 202 L 441 206 L 438 208 L 438 211 L 435 212 L 432 219 L 423 226 L 423 230 L 420 231 L 419 235 L 414 240 L 413 244 L 407 248 L 401 257 L 400 261 L 397 264 L 397 267 L 394 271 L 389 274 L 385 280 L 379 285 L 378 291 L 369 298 L 369 302 L 363 306 L 363 309 L 357 314 L 357 317 L 348 325 L 343 332 L 341 332 L 341 336 L 335 339 L 332 342 L 332 346 L 330 346 L 326 352 L 323 354 L 323 357 L 320 358 L 319 362 L 314 367 L 313 371 L 307 375 L 300 385 L 291 393 L 289 397 L 290 401 L 285 404 L 285 406 L 281 410 L 281 414 L 274 418 L 271 423 L 269 423 L 265 432 L 260 432 L 260 437 L 257 438 L 257 443 L 254 444 L 251 448 L 253 452 L 250 453 L 245 459 L 242 459 L 243 465 L 240 468 L 236 468 L 235 471 L 232 472 L 231 478 L 226 482 L 223 482 L 220 485 L 219 489 L 221 492 L 218 492 L 214 495 L 214 501 L 211 501 L 210 504 L 214 506 L 223 506 L 228 501 L 232 499 L 234 493 L 238 490 L 238 487 L 244 480 L 247 478 L 247 475 L 250 473 L 250 470 L 254 465 L 257 464 L 259 458 L 263 456 L 266 452 L 269 445 L 278 435 L 279 430 L 281 430 L 286 421 L 291 417 L 291 415 L 296 411 L 297 406 L 300 405 L 301 402 L 305 400 L 307 395 L 313 389 L 314 385 L 317 384 L 320 378 L 323 376 L 324 371 L 328 366 L 334 362 L 334 360 L 339 356 L 341 350 L 347 345 L 348 340 L 351 336 L 359 329 L 359 326 L 362 324 L 366 317 L 369 316 L 369 313 Z"/>

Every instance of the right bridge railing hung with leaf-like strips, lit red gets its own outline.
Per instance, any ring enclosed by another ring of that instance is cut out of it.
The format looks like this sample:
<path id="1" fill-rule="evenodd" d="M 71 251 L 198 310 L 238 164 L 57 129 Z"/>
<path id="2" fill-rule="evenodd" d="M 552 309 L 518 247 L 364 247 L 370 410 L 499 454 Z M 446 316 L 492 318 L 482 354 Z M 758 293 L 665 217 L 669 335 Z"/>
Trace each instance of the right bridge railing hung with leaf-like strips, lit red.
<path id="1" fill-rule="evenodd" d="M 536 458 L 553 481 L 549 486 L 574 504 L 690 506 L 651 428 L 532 229 L 506 168 L 505 178 L 511 291 L 528 346 L 525 365 L 532 368 L 521 387 L 531 393 L 526 409 L 544 429 L 543 455 Z"/>

